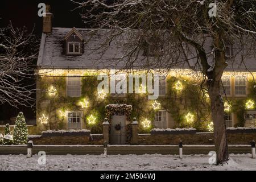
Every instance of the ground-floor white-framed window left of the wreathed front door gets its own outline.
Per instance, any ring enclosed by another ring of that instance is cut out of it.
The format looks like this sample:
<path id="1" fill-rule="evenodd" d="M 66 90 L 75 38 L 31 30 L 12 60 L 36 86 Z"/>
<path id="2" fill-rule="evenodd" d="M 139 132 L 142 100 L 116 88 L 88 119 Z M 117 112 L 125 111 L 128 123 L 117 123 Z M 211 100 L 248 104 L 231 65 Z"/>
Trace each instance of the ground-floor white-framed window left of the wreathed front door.
<path id="1" fill-rule="evenodd" d="M 68 123 L 68 129 L 69 130 L 77 130 L 81 129 L 81 112 L 68 112 L 67 115 L 67 123 Z"/>

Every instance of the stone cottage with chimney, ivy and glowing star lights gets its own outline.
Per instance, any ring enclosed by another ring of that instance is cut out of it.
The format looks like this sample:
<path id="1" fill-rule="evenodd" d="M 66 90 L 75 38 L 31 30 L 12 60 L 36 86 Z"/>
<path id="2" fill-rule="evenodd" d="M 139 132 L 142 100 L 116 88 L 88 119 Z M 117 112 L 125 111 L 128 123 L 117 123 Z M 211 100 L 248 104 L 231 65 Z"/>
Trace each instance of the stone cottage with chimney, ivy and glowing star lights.
<path id="1" fill-rule="evenodd" d="M 100 51 L 108 32 L 52 27 L 52 14 L 47 11 L 37 63 L 37 133 L 49 129 L 90 129 L 101 133 L 102 122 L 107 118 L 112 123 L 110 134 L 121 136 L 133 117 L 137 118 L 141 133 L 153 127 L 211 130 L 207 91 L 195 86 L 191 65 L 185 62 L 160 76 L 159 98 L 155 101 L 147 99 L 143 88 L 136 94 L 98 93 L 97 76 L 125 66 L 118 59 L 122 57 L 121 47 L 112 44 L 104 54 Z M 227 57 L 236 53 L 232 45 L 226 50 Z M 256 97 L 251 81 L 256 73 L 255 55 L 245 63 L 246 66 L 230 64 L 222 78 L 228 127 L 255 125 Z M 138 69 L 143 69 L 139 63 Z"/>

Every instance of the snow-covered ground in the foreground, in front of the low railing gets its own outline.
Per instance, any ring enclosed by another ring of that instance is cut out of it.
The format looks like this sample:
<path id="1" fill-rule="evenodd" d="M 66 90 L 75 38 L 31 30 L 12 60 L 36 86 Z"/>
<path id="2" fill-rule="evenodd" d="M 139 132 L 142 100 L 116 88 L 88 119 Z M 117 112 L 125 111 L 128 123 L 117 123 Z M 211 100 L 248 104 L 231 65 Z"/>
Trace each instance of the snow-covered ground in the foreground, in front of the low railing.
<path id="1" fill-rule="evenodd" d="M 230 155 L 223 166 L 208 164 L 207 155 L 47 155 L 46 165 L 38 155 L 0 155 L 0 170 L 256 170 L 250 154 Z"/>

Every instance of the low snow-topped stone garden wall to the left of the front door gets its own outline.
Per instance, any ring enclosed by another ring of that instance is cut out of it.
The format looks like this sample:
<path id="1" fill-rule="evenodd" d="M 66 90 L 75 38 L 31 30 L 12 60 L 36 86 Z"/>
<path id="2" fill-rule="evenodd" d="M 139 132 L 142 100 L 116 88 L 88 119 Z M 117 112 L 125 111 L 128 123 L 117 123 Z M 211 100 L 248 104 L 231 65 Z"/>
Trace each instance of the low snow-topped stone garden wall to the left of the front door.
<path id="1" fill-rule="evenodd" d="M 68 132 L 68 133 L 42 133 L 42 135 L 30 135 L 28 140 L 34 144 L 103 144 L 102 134 L 90 134 L 88 132 Z"/>

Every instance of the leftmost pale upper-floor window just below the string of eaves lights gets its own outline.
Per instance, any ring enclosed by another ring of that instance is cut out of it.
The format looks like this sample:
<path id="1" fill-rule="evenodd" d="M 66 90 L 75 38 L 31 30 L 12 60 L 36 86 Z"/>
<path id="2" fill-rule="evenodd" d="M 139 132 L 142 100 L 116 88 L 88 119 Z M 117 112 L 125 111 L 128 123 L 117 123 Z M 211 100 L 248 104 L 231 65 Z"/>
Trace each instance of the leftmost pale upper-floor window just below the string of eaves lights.
<path id="1" fill-rule="evenodd" d="M 68 97 L 81 96 L 81 77 L 67 77 L 67 95 Z"/>

